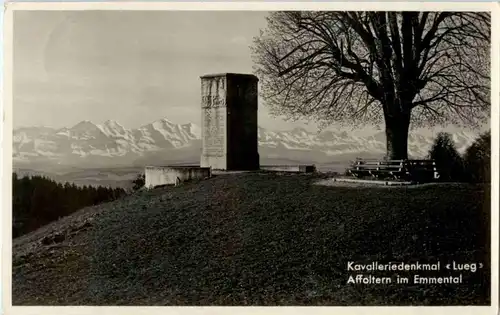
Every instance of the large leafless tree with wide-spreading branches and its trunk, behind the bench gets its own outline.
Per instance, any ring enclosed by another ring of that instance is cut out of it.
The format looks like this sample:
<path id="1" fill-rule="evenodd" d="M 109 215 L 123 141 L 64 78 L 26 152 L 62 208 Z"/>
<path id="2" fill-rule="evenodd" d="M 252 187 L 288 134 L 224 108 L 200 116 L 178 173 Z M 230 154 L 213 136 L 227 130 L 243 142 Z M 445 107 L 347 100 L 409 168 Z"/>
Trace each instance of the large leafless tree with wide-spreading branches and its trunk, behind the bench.
<path id="1" fill-rule="evenodd" d="M 407 158 L 410 123 L 477 126 L 490 108 L 488 12 L 273 12 L 253 58 L 272 113 L 385 123 Z"/>

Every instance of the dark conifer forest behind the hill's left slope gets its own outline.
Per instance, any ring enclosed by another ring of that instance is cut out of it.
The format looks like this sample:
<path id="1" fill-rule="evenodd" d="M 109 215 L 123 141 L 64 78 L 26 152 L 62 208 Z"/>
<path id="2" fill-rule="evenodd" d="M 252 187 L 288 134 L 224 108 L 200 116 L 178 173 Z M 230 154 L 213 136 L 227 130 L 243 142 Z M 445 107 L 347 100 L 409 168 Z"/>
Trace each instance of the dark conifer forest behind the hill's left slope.
<path id="1" fill-rule="evenodd" d="M 12 174 L 12 234 L 17 237 L 81 208 L 116 200 L 122 188 L 61 184 L 43 176 Z"/>

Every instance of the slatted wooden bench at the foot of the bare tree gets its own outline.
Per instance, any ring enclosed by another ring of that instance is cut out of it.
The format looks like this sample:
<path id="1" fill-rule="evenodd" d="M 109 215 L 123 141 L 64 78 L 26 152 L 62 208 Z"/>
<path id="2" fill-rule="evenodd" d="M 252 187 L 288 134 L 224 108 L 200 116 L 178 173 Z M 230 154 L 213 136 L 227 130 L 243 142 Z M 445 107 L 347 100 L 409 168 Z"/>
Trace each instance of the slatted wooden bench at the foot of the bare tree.
<path id="1" fill-rule="evenodd" d="M 413 180 L 428 182 L 436 179 L 437 171 L 432 160 L 375 160 L 357 158 L 347 173 L 357 177 L 377 179 Z"/>

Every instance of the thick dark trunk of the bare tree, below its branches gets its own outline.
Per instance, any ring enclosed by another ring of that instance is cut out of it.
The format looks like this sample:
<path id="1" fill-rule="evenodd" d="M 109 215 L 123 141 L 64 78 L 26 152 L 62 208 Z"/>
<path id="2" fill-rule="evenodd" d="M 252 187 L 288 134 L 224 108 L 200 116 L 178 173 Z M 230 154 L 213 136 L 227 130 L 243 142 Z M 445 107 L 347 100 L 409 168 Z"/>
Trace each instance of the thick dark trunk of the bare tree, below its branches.
<path id="1" fill-rule="evenodd" d="M 387 159 L 403 160 L 408 158 L 408 131 L 410 118 L 398 115 L 386 118 L 385 135 L 387 143 Z"/>

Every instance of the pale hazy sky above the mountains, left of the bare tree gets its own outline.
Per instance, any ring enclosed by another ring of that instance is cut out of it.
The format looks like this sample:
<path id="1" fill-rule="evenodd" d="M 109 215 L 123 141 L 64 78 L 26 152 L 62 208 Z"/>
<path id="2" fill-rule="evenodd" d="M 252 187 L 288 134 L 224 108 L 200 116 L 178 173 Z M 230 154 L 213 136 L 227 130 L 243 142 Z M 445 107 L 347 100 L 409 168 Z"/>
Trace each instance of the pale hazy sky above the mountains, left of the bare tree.
<path id="1" fill-rule="evenodd" d="M 17 11 L 14 127 L 200 123 L 200 75 L 252 73 L 266 12 Z M 269 117 L 259 124 L 293 125 Z"/>

